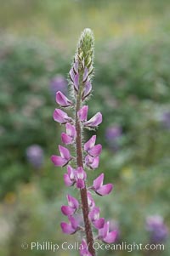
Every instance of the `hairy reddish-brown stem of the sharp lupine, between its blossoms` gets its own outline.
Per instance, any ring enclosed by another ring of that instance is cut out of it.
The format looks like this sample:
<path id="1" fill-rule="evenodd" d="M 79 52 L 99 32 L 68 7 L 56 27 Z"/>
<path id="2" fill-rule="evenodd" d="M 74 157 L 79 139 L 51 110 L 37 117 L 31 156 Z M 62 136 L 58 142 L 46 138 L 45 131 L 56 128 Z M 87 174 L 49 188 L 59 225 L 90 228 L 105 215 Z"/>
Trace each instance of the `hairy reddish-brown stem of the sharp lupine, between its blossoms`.
<path id="1" fill-rule="evenodd" d="M 81 91 L 81 90 L 80 90 Z M 82 161 L 82 130 L 81 130 L 81 124 L 77 117 L 77 111 L 80 110 L 81 107 L 81 94 L 77 95 L 77 105 L 76 105 L 76 129 L 77 129 L 77 166 L 83 168 L 83 161 Z M 83 219 L 84 219 L 84 225 L 85 225 L 85 232 L 86 232 L 86 238 L 88 242 L 88 251 L 92 254 L 92 256 L 95 256 L 95 250 L 93 247 L 94 244 L 94 237 L 93 232 L 91 228 L 90 221 L 88 219 L 88 195 L 87 195 L 87 188 L 86 185 L 83 189 L 80 190 L 81 193 L 81 200 L 82 200 L 82 213 L 83 213 Z"/>

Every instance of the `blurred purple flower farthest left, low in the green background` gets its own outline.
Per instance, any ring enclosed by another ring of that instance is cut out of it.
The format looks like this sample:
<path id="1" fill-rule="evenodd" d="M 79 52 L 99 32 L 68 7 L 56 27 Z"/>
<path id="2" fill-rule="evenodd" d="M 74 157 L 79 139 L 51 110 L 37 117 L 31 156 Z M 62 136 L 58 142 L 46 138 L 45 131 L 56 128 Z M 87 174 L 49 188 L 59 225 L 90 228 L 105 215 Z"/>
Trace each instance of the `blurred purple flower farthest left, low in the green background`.
<path id="1" fill-rule="evenodd" d="M 33 168 L 42 168 L 43 150 L 40 145 L 31 145 L 26 149 L 26 157 Z"/>

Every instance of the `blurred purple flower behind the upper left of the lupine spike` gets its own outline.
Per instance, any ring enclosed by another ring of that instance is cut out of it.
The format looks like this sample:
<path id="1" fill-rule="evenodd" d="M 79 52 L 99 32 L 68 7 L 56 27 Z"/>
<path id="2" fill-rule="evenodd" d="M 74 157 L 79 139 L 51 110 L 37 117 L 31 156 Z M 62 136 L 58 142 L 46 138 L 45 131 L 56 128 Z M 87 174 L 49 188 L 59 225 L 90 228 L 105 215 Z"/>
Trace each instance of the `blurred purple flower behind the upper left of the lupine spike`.
<path id="1" fill-rule="evenodd" d="M 61 75 L 54 77 L 49 84 L 49 88 L 54 97 L 58 91 L 63 94 L 67 94 L 67 81 L 65 77 Z"/>

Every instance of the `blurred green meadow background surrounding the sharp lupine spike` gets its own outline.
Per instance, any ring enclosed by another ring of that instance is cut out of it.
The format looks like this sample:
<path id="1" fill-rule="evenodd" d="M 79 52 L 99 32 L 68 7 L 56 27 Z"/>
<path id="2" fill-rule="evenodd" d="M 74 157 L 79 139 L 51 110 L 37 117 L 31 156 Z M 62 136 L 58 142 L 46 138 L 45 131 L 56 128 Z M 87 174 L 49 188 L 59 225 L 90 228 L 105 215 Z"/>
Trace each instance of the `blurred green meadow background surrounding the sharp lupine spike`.
<path id="1" fill-rule="evenodd" d="M 52 114 L 56 90 L 67 93 L 77 39 L 90 27 L 89 117 L 101 111 L 104 122 L 97 131 L 100 165 L 89 183 L 105 172 L 105 182 L 115 185 L 110 196 L 95 199 L 119 230 L 118 242 L 165 244 L 162 252 L 131 255 L 168 256 L 170 1 L 1 0 L 0 6 L 0 255 L 78 255 L 23 250 L 21 243 L 78 241 L 59 227 L 60 206 L 77 191 L 65 188 L 65 170 L 50 162 L 62 130 Z M 162 222 L 150 231 L 146 219 L 157 215 Z"/>

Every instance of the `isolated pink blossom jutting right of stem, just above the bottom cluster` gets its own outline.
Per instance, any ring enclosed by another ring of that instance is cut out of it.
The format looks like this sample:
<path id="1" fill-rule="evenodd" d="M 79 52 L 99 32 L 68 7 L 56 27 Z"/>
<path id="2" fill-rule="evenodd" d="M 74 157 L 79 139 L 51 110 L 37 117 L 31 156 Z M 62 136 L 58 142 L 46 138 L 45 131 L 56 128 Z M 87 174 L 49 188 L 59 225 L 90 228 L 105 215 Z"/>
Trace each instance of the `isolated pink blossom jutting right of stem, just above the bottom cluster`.
<path id="1" fill-rule="evenodd" d="M 98 178 L 94 179 L 94 185 L 92 188 L 99 196 L 108 195 L 113 189 L 112 184 L 103 185 L 103 181 L 104 174 L 100 174 Z"/>

